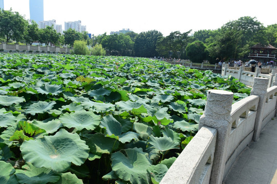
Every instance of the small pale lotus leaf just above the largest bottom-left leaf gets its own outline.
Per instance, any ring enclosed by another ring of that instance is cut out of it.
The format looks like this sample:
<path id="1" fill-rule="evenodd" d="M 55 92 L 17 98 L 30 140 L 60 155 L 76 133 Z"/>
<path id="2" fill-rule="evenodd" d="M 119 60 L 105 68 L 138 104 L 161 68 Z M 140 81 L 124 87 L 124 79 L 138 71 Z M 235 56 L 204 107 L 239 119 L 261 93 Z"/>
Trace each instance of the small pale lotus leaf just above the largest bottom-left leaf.
<path id="1" fill-rule="evenodd" d="M 46 133 L 54 133 L 57 131 L 59 128 L 63 127 L 63 124 L 61 123 L 60 120 L 50 120 L 50 121 L 36 121 L 34 120 L 32 122 L 35 126 L 44 129 Z"/>

